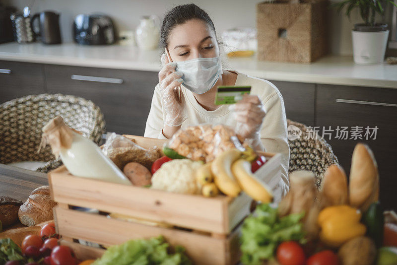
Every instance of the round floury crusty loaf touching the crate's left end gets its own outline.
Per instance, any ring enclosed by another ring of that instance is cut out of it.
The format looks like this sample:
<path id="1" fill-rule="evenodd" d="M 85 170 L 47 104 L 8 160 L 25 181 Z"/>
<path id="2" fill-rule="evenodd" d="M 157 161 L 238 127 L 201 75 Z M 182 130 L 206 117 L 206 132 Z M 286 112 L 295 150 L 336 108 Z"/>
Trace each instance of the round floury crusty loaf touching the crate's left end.
<path id="1" fill-rule="evenodd" d="M 50 186 L 39 187 L 31 193 L 19 208 L 21 223 L 31 226 L 54 218 L 53 207 L 57 203 L 51 199 L 50 193 Z"/>

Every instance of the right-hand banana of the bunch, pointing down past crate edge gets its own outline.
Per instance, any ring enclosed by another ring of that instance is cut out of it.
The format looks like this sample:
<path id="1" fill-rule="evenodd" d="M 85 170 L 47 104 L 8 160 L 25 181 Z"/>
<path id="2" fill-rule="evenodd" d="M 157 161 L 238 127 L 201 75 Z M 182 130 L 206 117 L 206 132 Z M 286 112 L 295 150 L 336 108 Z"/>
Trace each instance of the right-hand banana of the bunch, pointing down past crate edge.
<path id="1" fill-rule="evenodd" d="M 233 175 L 240 187 L 252 199 L 268 203 L 273 200 L 270 188 L 251 172 L 251 163 L 245 159 L 238 159 L 232 165 Z"/>

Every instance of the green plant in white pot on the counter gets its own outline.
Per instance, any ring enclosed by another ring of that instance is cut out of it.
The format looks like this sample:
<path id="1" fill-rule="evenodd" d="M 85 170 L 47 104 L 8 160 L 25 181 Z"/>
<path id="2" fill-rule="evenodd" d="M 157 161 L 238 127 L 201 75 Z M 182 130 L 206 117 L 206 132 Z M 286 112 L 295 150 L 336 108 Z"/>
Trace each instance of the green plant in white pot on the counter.
<path id="1" fill-rule="evenodd" d="M 386 5 L 391 0 L 343 0 L 335 3 L 338 12 L 344 6 L 346 15 L 350 18 L 350 12 L 355 7 L 360 9 L 361 18 L 365 23 L 357 23 L 351 31 L 353 40 L 353 57 L 356 64 L 380 64 L 385 58 L 386 45 L 389 36 L 388 25 L 375 23 L 375 14 L 384 16 Z"/>

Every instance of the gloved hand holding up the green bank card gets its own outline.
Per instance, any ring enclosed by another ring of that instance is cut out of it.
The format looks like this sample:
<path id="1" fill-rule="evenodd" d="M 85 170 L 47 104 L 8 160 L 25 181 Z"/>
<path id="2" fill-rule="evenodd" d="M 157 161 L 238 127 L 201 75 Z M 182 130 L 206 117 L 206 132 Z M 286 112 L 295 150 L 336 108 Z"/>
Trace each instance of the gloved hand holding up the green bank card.
<path id="1" fill-rule="evenodd" d="M 251 144 L 261 144 L 261 127 L 265 118 L 265 107 L 256 95 L 244 95 L 238 103 L 229 107 L 237 121 L 236 133 L 251 140 Z"/>

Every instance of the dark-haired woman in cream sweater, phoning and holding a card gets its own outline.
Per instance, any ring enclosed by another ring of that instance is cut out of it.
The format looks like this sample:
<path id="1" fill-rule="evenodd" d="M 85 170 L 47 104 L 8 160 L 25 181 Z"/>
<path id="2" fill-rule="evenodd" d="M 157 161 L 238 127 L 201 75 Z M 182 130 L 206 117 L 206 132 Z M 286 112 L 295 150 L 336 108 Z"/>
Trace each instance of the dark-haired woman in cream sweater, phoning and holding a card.
<path id="1" fill-rule="evenodd" d="M 289 147 L 282 96 L 270 82 L 223 69 L 215 27 L 208 14 L 195 4 L 174 7 L 165 16 L 161 42 L 165 57 L 154 89 L 144 136 L 171 138 L 181 128 L 202 123 L 225 124 L 251 139 L 257 150 L 282 153 L 277 189 L 288 190 Z M 209 69 L 200 71 L 200 66 Z M 176 70 L 175 72 L 173 72 Z M 182 102 L 175 88 L 182 87 Z M 221 85 L 251 85 L 251 94 L 235 105 L 214 104 Z"/>

